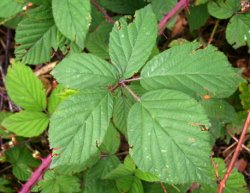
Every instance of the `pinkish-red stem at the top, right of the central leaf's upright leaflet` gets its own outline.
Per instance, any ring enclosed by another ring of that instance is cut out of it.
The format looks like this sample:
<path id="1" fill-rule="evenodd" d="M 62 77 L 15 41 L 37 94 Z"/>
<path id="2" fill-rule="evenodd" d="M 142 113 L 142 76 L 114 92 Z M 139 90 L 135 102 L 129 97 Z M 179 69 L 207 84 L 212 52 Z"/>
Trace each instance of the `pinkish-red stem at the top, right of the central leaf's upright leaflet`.
<path id="1" fill-rule="evenodd" d="M 171 9 L 160 21 L 158 25 L 158 33 L 161 35 L 163 33 L 163 30 L 168 23 L 168 21 L 178 12 L 181 11 L 182 9 L 188 7 L 189 5 L 189 0 L 180 0 L 174 7 Z"/>

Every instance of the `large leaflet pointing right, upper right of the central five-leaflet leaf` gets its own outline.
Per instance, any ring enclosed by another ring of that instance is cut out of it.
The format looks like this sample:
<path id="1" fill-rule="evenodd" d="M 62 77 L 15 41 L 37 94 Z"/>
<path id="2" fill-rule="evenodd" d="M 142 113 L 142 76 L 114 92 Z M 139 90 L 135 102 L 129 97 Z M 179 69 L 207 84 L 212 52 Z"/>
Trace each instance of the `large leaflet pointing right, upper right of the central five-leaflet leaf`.
<path id="1" fill-rule="evenodd" d="M 176 89 L 194 97 L 230 96 L 244 79 L 215 47 L 199 47 L 197 42 L 185 43 L 154 57 L 142 69 L 142 86 Z"/>

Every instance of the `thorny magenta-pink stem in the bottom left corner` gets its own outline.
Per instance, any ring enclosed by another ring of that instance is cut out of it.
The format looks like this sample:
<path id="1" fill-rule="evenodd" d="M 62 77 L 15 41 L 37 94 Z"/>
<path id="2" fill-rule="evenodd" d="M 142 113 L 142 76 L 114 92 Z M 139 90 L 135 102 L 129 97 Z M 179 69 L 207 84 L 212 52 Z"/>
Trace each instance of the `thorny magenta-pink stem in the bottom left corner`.
<path id="1" fill-rule="evenodd" d="M 36 169 L 36 171 L 33 172 L 30 179 L 23 185 L 22 189 L 19 190 L 18 193 L 29 193 L 32 187 L 37 183 L 38 180 L 42 178 L 43 174 L 49 168 L 51 160 L 51 154 L 49 154 L 46 158 L 42 159 L 42 164 L 39 166 L 39 168 Z"/>

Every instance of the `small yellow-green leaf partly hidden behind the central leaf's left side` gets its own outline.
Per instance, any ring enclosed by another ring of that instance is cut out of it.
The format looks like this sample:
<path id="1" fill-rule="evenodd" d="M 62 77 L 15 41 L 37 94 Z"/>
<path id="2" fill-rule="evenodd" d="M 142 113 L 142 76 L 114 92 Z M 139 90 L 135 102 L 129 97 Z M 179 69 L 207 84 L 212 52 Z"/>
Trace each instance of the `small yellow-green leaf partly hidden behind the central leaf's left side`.
<path id="1" fill-rule="evenodd" d="M 50 114 L 52 114 L 56 110 L 60 102 L 62 102 L 62 97 L 60 96 L 62 93 L 63 93 L 63 87 L 61 84 L 59 84 L 49 96 L 48 111 Z"/>

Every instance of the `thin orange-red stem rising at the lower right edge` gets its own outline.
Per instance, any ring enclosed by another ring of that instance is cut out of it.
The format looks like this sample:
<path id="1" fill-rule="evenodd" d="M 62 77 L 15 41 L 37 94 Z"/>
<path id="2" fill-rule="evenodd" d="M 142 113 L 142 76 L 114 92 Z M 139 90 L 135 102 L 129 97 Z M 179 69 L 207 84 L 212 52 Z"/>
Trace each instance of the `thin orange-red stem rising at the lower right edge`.
<path id="1" fill-rule="evenodd" d="M 227 179 L 228 179 L 228 177 L 229 177 L 229 175 L 230 175 L 230 173 L 231 173 L 231 171 L 232 171 L 232 169 L 234 167 L 234 164 L 235 164 L 235 162 L 236 162 L 236 160 L 238 158 L 238 155 L 240 153 L 241 145 L 243 144 L 243 141 L 244 141 L 245 135 L 247 133 L 247 128 L 248 128 L 249 123 L 250 123 L 250 110 L 248 111 L 248 115 L 247 115 L 243 130 L 242 130 L 238 145 L 237 145 L 237 147 L 235 149 L 233 158 L 232 158 L 231 162 L 229 163 L 229 166 L 227 168 L 227 171 L 226 171 L 223 179 L 220 181 L 220 184 L 219 184 L 219 187 L 218 187 L 218 193 L 223 193 L 223 189 L 225 188 L 226 181 L 227 181 Z"/>

